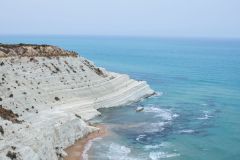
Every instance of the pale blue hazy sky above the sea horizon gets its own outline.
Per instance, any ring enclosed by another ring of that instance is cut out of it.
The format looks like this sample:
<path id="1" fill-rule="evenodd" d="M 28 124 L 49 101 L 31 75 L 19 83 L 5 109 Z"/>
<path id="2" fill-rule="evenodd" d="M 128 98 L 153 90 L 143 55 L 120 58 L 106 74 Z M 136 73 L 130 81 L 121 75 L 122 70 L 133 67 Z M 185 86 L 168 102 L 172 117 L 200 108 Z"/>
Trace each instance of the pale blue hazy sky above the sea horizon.
<path id="1" fill-rule="evenodd" d="M 240 0 L 0 0 L 0 34 L 240 37 Z"/>

